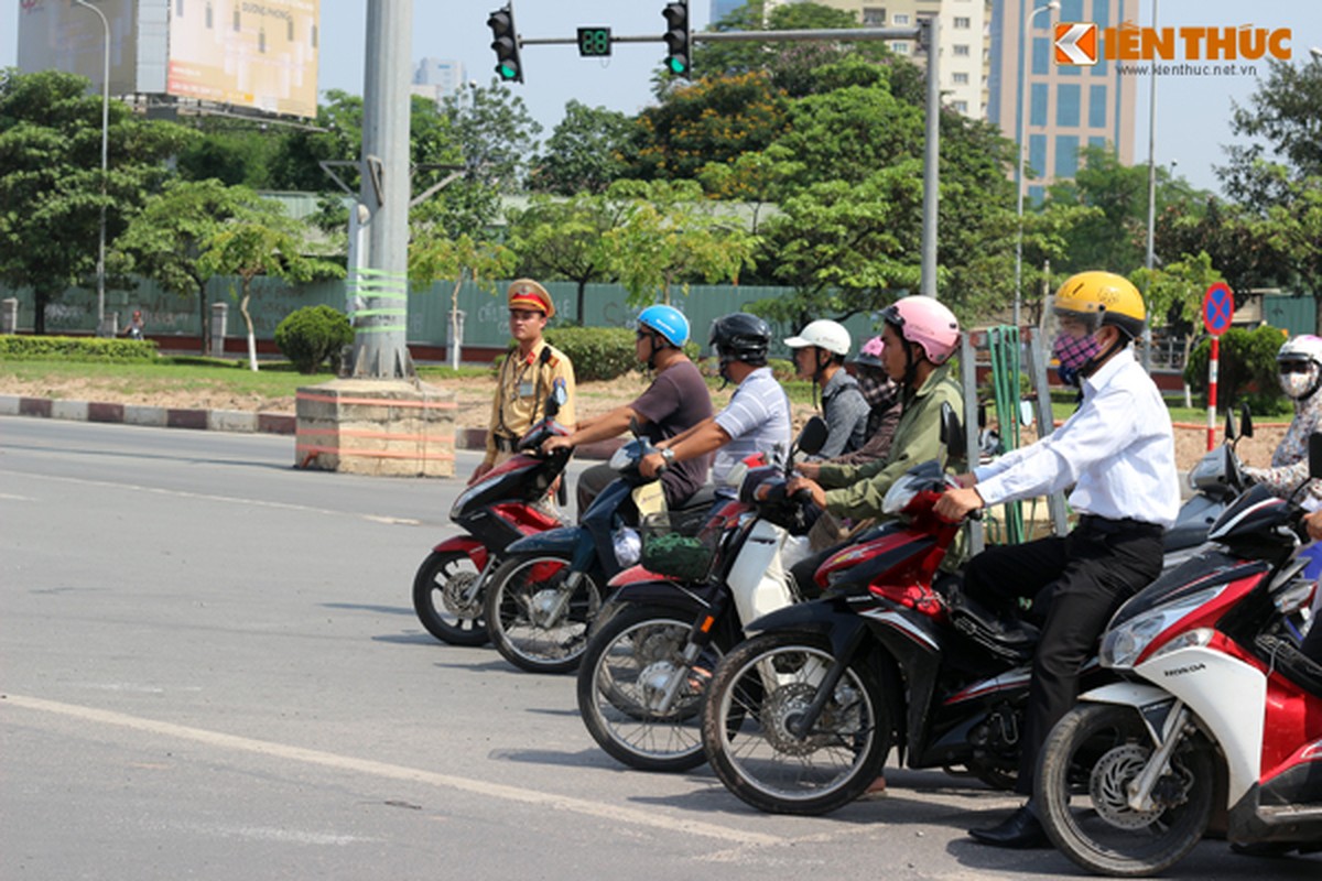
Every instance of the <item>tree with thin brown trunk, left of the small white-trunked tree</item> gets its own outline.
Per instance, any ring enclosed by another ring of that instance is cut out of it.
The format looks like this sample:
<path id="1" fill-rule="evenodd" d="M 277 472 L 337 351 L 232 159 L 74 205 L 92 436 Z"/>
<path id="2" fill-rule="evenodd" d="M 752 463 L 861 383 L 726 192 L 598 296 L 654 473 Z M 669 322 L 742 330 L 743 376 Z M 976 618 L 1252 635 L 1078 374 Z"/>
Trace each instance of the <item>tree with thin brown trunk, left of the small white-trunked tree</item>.
<path id="1" fill-rule="evenodd" d="M 139 275 L 181 297 L 197 295 L 204 353 L 210 342 L 210 273 L 202 268 L 202 242 L 237 217 L 260 214 L 262 205 L 258 194 L 243 186 L 217 180 L 171 181 L 147 199 L 116 242 Z"/>

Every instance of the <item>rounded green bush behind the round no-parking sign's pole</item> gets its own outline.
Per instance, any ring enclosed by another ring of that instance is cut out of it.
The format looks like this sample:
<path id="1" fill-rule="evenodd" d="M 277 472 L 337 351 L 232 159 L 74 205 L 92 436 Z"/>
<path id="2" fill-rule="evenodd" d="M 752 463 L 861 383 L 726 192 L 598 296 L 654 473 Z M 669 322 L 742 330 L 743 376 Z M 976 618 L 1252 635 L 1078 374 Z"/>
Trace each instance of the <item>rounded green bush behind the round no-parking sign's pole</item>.
<path id="1" fill-rule="evenodd" d="M 1225 409 L 1248 402 L 1253 412 L 1276 412 L 1282 394 L 1276 379 L 1276 353 L 1285 337 L 1280 328 L 1264 325 L 1255 330 L 1231 328 L 1222 334 L 1218 358 L 1216 404 Z M 1212 341 L 1194 349 L 1185 366 L 1185 382 L 1199 394 L 1207 392 L 1207 365 Z"/>

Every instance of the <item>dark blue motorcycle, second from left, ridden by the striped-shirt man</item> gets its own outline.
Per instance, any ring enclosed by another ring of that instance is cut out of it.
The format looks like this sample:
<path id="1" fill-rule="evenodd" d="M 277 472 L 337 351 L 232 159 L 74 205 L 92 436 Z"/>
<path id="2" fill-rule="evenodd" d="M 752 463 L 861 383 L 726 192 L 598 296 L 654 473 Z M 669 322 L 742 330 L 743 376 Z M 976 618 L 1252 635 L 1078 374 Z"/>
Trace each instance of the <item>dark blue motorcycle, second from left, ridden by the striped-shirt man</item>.
<path id="1" fill-rule="evenodd" d="M 642 511 L 665 509 L 661 483 L 639 472 L 653 446 L 636 427 L 633 433 L 609 461 L 620 477 L 592 499 L 579 524 L 518 539 L 505 548 L 490 576 L 484 601 L 486 633 L 520 670 L 568 672 L 578 667 L 607 582 L 637 560 L 633 536 L 621 530 L 636 524 Z M 703 487 L 677 514 L 706 511 L 713 502 L 714 491 Z"/>

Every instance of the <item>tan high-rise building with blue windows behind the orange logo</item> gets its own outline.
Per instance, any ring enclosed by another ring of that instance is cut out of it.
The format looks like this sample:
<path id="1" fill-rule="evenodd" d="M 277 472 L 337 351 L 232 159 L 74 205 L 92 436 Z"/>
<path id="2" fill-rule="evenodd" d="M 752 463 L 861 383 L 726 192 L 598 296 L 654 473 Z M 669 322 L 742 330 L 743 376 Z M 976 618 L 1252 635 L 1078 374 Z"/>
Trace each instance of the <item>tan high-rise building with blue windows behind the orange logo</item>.
<path id="1" fill-rule="evenodd" d="M 1056 22 L 1118 26 L 1137 18 L 1138 0 L 1060 0 L 1059 11 L 1034 15 L 1044 5 L 1046 0 L 993 0 L 989 45 L 986 116 L 1018 143 L 1019 114 L 1027 111 L 1025 131 L 1032 176 L 1027 193 L 1034 201 L 1042 198 L 1051 181 L 1075 176 L 1084 147 L 1109 147 L 1125 165 L 1134 160 L 1136 78 L 1121 75 L 1118 66 L 1105 58 L 1092 66 L 1056 63 L 1052 44 Z M 1025 16 L 1032 16 L 1026 46 Z M 1021 85 L 1027 86 L 1026 91 Z M 1019 106 L 1021 94 L 1025 107 Z"/>

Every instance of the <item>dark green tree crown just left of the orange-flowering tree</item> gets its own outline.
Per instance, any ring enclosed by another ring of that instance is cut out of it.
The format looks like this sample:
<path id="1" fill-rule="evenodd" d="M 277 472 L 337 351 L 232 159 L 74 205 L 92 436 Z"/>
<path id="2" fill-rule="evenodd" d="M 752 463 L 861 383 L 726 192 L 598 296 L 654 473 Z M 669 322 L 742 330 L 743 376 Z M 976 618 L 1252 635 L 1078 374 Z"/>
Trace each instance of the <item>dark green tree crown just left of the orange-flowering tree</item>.
<path id="1" fill-rule="evenodd" d="M 564 119 L 537 160 L 531 189 L 559 195 L 604 193 L 624 174 L 623 152 L 632 132 L 632 120 L 619 111 L 566 102 Z"/>

